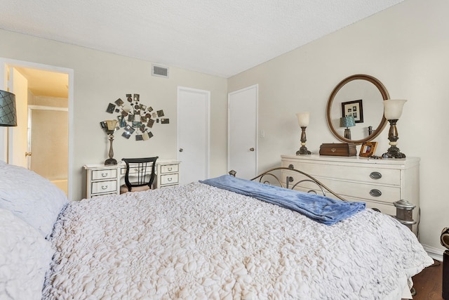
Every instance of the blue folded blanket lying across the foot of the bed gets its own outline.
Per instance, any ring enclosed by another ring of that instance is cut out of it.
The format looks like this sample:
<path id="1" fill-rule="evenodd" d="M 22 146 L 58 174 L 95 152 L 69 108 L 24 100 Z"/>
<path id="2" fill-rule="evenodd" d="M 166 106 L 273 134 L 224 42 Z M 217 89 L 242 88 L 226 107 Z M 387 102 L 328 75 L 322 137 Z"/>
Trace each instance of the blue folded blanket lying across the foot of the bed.
<path id="1" fill-rule="evenodd" d="M 333 225 L 343 219 L 347 219 L 349 216 L 356 214 L 357 211 L 365 209 L 366 205 L 364 202 L 335 200 L 321 195 L 235 178 L 230 175 L 210 178 L 200 182 L 277 204 L 280 207 L 293 209 L 314 221 L 326 225 Z"/>

